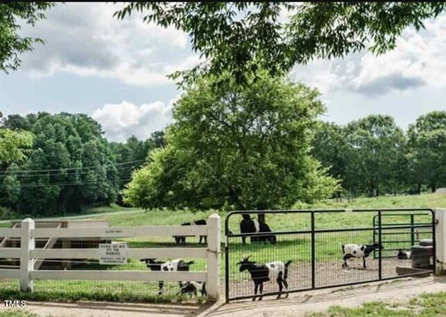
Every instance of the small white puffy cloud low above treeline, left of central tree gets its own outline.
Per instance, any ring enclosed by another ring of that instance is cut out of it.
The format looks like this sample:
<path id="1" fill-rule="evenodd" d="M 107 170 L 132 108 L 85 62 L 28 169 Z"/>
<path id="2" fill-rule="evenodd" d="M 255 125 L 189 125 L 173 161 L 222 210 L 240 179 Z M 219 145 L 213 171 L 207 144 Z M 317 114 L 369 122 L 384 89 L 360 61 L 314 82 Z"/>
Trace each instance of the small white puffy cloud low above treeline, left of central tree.
<path id="1" fill-rule="evenodd" d="M 171 100 L 167 105 L 160 101 L 142 105 L 127 101 L 106 104 L 96 109 L 91 116 L 102 125 L 108 139 L 125 141 L 132 135 L 138 139 L 147 139 L 152 132 L 162 130 L 171 123 L 171 110 L 176 100 Z"/>

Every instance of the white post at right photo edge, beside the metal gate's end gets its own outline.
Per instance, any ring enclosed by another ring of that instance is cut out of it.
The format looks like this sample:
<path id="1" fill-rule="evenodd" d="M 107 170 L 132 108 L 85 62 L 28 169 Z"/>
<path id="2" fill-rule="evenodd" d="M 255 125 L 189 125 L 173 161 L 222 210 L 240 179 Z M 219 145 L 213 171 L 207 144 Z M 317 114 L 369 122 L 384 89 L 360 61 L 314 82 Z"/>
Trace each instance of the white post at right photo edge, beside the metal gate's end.
<path id="1" fill-rule="evenodd" d="M 436 209 L 435 219 L 436 258 L 433 259 L 433 265 L 435 265 L 435 274 L 443 275 L 446 269 L 446 209 Z"/>

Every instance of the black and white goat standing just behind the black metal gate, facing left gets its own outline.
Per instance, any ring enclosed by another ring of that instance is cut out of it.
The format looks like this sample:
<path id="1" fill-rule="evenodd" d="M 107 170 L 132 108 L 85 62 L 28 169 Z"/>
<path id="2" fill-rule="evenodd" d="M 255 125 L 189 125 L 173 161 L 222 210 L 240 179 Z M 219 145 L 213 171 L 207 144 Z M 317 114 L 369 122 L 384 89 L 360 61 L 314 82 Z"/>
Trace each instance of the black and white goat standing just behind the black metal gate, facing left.
<path id="1" fill-rule="evenodd" d="M 288 266 L 291 261 L 283 263 L 282 261 L 272 261 L 264 264 L 259 264 L 254 261 L 249 261 L 249 256 L 247 258 L 243 258 L 240 261 L 240 272 L 247 270 L 251 275 L 252 281 L 254 281 L 254 295 L 257 295 L 257 291 L 259 291 L 259 300 L 262 300 L 263 293 L 263 283 L 266 281 L 275 280 L 279 285 L 279 295 L 277 298 L 282 296 L 283 289 L 288 289 L 288 282 L 286 279 L 288 278 Z M 286 294 L 288 297 L 288 293 Z M 256 296 L 252 298 L 252 300 L 256 300 Z"/>

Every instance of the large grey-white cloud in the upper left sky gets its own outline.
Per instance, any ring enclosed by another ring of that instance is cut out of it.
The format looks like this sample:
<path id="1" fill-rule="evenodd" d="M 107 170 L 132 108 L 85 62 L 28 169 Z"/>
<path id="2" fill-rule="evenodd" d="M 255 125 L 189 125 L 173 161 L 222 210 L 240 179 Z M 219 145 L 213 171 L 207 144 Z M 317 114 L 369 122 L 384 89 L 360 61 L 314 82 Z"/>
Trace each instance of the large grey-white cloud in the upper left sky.
<path id="1" fill-rule="evenodd" d="M 142 22 L 141 14 L 117 20 L 123 4 L 58 3 L 47 20 L 23 35 L 44 38 L 24 54 L 22 70 L 32 78 L 68 72 L 83 77 L 118 79 L 134 86 L 161 86 L 174 70 L 199 61 L 187 47 L 187 34 Z"/>

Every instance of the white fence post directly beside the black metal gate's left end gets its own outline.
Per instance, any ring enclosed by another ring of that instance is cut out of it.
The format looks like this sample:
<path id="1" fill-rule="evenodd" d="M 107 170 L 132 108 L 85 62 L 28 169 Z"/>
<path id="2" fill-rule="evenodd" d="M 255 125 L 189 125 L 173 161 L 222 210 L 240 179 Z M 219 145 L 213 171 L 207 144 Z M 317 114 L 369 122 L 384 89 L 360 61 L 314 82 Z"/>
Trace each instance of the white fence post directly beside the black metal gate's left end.
<path id="1" fill-rule="evenodd" d="M 210 300 L 218 300 L 220 293 L 220 216 L 213 213 L 208 218 L 208 272 L 206 288 Z"/>

